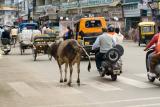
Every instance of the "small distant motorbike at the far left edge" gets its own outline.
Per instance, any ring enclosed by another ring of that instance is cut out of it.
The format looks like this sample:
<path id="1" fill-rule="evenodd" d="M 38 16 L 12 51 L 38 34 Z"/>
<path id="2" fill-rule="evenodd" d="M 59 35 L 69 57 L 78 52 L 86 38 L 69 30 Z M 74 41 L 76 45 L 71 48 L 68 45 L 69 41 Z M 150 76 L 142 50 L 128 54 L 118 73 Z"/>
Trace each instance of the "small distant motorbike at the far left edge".
<path id="1" fill-rule="evenodd" d="M 7 38 L 1 38 L 2 46 L 1 50 L 7 55 L 11 51 L 10 40 Z"/>

